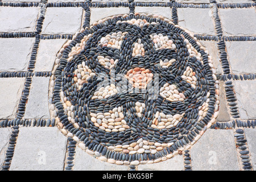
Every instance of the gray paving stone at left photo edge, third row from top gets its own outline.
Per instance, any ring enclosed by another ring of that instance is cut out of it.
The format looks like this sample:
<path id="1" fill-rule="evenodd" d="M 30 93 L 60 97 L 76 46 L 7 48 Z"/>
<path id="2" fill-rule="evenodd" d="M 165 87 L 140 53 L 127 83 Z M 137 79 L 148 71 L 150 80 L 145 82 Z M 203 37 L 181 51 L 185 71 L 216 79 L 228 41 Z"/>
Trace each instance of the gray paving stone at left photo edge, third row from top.
<path id="1" fill-rule="evenodd" d="M 0 119 L 14 119 L 25 78 L 0 78 Z"/>

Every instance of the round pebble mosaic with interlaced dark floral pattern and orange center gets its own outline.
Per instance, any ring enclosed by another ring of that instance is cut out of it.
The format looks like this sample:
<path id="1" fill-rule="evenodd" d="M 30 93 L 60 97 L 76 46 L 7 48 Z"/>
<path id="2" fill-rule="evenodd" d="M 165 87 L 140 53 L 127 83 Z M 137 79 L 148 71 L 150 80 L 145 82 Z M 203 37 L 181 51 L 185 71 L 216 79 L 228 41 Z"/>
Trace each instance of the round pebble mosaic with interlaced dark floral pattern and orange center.
<path id="1" fill-rule="evenodd" d="M 90 155 L 156 163 L 191 147 L 216 121 L 212 58 L 158 15 L 118 15 L 82 29 L 57 55 L 51 114 Z"/>

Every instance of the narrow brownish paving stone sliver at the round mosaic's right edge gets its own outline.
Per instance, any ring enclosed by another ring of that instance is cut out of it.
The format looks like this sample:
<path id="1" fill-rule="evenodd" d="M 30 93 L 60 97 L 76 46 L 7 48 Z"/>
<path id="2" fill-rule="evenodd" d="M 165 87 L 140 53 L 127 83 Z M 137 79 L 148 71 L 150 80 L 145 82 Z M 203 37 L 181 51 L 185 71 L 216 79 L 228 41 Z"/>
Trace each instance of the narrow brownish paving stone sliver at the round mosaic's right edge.
<path id="1" fill-rule="evenodd" d="M 227 107 L 224 82 L 220 81 L 219 85 L 220 85 L 220 105 L 219 105 L 219 114 L 217 117 L 217 121 L 226 122 L 226 121 L 230 121 L 230 115 Z"/>

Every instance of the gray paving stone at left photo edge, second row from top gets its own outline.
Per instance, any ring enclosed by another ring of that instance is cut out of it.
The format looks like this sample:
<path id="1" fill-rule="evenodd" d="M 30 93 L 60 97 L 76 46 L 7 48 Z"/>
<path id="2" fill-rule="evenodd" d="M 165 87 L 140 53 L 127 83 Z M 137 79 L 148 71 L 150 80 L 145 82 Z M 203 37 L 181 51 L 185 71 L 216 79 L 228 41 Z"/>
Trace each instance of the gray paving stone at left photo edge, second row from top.
<path id="1" fill-rule="evenodd" d="M 0 39 L 0 72 L 27 71 L 34 42 L 34 38 Z"/>

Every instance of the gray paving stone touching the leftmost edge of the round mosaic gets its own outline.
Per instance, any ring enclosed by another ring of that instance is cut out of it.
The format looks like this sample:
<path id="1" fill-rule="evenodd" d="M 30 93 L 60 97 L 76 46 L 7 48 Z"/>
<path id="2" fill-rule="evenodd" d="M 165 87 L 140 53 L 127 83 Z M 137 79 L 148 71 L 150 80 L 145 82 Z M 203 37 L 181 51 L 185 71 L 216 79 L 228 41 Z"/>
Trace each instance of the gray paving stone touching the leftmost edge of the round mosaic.
<path id="1" fill-rule="evenodd" d="M 49 119 L 49 77 L 33 77 L 24 119 Z"/>

